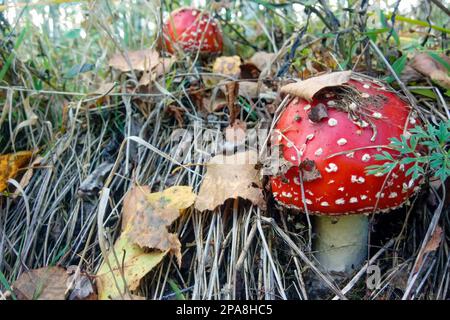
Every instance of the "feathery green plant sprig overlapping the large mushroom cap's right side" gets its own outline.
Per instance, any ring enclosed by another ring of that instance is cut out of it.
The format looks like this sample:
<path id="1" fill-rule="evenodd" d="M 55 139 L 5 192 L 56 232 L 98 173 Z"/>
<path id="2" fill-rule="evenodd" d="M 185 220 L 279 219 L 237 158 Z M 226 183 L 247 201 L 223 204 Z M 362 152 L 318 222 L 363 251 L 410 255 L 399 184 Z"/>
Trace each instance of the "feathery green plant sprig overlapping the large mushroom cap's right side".
<path id="1" fill-rule="evenodd" d="M 385 161 L 381 165 L 368 166 L 368 174 L 387 174 L 397 165 L 411 165 L 406 171 L 407 176 L 414 180 L 425 175 L 424 167 L 428 164 L 433 176 L 445 181 L 450 175 L 449 141 L 450 120 L 442 121 L 438 126 L 428 125 L 426 128 L 416 126 L 409 130 L 411 136 L 391 138 L 389 147 L 397 150 L 399 156 L 395 159 L 390 153 L 382 151 L 375 159 Z M 427 154 L 420 152 L 427 148 Z"/>

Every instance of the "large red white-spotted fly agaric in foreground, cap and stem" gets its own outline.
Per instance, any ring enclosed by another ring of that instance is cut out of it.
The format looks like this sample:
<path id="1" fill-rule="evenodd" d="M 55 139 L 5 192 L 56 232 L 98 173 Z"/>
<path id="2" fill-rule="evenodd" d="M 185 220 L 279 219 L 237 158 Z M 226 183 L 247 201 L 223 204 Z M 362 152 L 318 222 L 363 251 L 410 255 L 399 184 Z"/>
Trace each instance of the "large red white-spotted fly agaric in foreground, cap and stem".
<path id="1" fill-rule="evenodd" d="M 406 176 L 409 166 L 367 174 L 380 165 L 375 154 L 399 152 L 389 138 L 408 138 L 418 120 L 411 107 L 381 83 L 352 77 L 324 88 L 311 101 L 294 98 L 274 131 L 292 166 L 271 178 L 282 205 L 314 214 L 314 250 L 321 269 L 348 275 L 367 256 L 368 215 L 402 206 L 419 187 Z M 304 201 L 303 201 L 304 200 Z"/>

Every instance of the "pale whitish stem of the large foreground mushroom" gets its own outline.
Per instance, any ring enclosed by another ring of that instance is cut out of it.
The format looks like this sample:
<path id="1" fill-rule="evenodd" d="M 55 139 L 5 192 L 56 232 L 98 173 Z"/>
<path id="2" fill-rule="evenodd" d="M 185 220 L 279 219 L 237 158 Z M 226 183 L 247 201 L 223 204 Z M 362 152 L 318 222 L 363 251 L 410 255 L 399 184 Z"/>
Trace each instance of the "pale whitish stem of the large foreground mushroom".
<path id="1" fill-rule="evenodd" d="M 369 220 L 365 215 L 316 216 L 315 257 L 324 272 L 350 274 L 367 257 Z"/>

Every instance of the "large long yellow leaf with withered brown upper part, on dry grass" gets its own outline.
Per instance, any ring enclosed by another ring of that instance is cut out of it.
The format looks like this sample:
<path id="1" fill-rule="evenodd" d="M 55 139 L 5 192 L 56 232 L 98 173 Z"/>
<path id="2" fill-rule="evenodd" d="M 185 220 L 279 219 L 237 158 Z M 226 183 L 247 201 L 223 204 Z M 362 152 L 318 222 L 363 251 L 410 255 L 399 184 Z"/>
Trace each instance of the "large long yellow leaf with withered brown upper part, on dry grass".
<path id="1" fill-rule="evenodd" d="M 181 262 L 181 243 L 167 227 L 179 217 L 180 210 L 194 203 L 195 197 L 188 186 L 174 186 L 154 193 L 148 186 L 136 186 L 127 193 L 122 234 L 114 244 L 114 251 L 108 253 L 111 267 L 105 261 L 97 272 L 100 300 L 129 299 L 130 291 L 137 289 L 142 277 L 168 252 L 173 252 Z"/>

